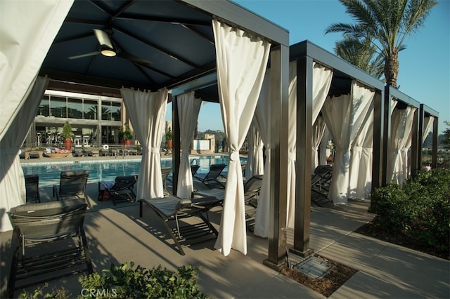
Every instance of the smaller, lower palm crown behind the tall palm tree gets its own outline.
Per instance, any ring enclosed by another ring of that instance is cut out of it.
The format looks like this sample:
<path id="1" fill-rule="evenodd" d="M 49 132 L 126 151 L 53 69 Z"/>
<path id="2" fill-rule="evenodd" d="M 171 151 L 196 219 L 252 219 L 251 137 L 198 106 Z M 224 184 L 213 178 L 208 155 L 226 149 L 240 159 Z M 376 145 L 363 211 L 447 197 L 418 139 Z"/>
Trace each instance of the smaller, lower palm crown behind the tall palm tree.
<path id="1" fill-rule="evenodd" d="M 363 69 L 373 77 L 380 79 L 383 75 L 383 56 L 377 53 L 377 49 L 373 46 L 371 40 L 360 41 L 344 34 L 343 40 L 336 41 L 334 50 L 340 58 Z"/>

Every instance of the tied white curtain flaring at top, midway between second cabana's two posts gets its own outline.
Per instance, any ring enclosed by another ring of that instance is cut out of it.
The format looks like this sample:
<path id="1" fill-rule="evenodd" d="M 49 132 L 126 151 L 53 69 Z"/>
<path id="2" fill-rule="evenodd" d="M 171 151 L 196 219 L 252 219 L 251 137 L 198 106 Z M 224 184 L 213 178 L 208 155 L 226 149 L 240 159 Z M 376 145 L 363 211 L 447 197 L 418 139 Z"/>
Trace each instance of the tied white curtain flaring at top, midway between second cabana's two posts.
<path id="1" fill-rule="evenodd" d="M 328 193 L 334 204 L 347 204 L 350 147 L 371 104 L 370 98 L 359 93 L 358 86 L 356 81 L 352 81 L 350 95 L 328 98 L 322 109 L 336 145 L 333 179 Z"/>

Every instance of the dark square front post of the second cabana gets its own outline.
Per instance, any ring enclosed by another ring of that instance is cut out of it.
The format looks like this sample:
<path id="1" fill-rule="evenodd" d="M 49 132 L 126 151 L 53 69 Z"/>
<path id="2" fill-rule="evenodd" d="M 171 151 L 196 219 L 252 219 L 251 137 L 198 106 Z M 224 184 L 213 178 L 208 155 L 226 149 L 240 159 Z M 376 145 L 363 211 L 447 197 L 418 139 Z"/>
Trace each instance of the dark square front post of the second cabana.
<path id="1" fill-rule="evenodd" d="M 297 154 L 295 161 L 295 222 L 292 253 L 307 257 L 311 222 L 311 140 L 313 105 L 313 60 L 297 60 Z"/>

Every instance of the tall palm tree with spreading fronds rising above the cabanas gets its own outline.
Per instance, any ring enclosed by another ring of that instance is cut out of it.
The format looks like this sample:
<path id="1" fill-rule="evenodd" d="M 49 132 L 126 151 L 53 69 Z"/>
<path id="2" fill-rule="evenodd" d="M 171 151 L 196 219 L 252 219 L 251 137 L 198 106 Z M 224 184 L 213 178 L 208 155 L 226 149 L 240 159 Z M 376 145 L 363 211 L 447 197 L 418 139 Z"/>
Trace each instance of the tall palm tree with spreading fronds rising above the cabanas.
<path id="1" fill-rule="evenodd" d="M 370 40 L 385 60 L 385 79 L 397 87 L 399 52 L 405 39 L 423 26 L 435 0 L 339 0 L 356 24 L 335 23 L 326 29 L 351 39 Z"/>

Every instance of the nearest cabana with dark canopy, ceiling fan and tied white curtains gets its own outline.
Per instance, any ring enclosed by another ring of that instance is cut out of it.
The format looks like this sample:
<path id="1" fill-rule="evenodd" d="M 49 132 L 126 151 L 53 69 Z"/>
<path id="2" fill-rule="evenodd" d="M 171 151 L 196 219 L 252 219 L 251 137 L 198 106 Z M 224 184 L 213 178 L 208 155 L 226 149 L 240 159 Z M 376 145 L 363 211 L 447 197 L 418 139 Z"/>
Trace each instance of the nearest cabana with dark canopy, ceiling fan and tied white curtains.
<path id="1" fill-rule="evenodd" d="M 221 102 L 224 119 L 231 124 L 226 128 L 228 140 L 233 142 L 230 159 L 236 161 L 250 121 L 234 115 L 231 105 L 238 102 L 245 106 L 238 109 L 243 115 L 253 114 L 270 57 L 276 69 L 271 77 L 271 159 L 280 166 L 273 168 L 273 177 L 279 180 L 271 182 L 275 186 L 271 198 L 274 202 L 285 199 L 285 173 L 280 170 L 286 166 L 281 154 L 285 143 L 281 132 L 286 131 L 286 124 L 280 120 L 286 119 L 288 112 L 287 30 L 230 1 L 6 1 L 1 4 L 1 19 L 5 41 L 1 52 L 9 66 L 1 73 L 5 79 L 0 126 L 2 231 L 11 230 L 6 212 L 25 201 L 18 150 L 26 132 L 18 134 L 18 128 L 29 128 L 49 79 L 52 88 L 63 91 L 95 92 L 94 86 L 120 90 L 143 145 L 145 166 L 139 173 L 137 197 L 160 197 L 163 187 L 156 174 L 160 173 L 161 124 L 169 91 L 176 96 L 194 92 L 202 100 Z M 20 26 L 19 20 L 24 20 Z M 236 50 L 229 44 L 240 46 Z M 223 65 L 229 62 L 238 63 L 225 69 Z M 247 73 L 241 73 L 242 69 Z M 32 87 L 37 88 L 37 75 L 43 79 L 38 80 L 39 91 L 31 95 Z M 224 77 L 236 81 L 227 85 Z M 218 87 L 211 88 L 213 85 Z M 234 95 L 239 96 L 238 101 Z M 26 119 L 21 117 L 23 111 L 30 114 Z M 243 121 L 235 126 L 236 119 Z M 229 169 L 238 167 L 238 162 L 229 165 Z M 246 252 L 239 180 L 238 171 L 229 170 L 227 190 L 231 191 L 224 201 L 216 245 L 224 255 L 231 248 Z M 234 211 L 239 212 L 235 215 Z"/>

